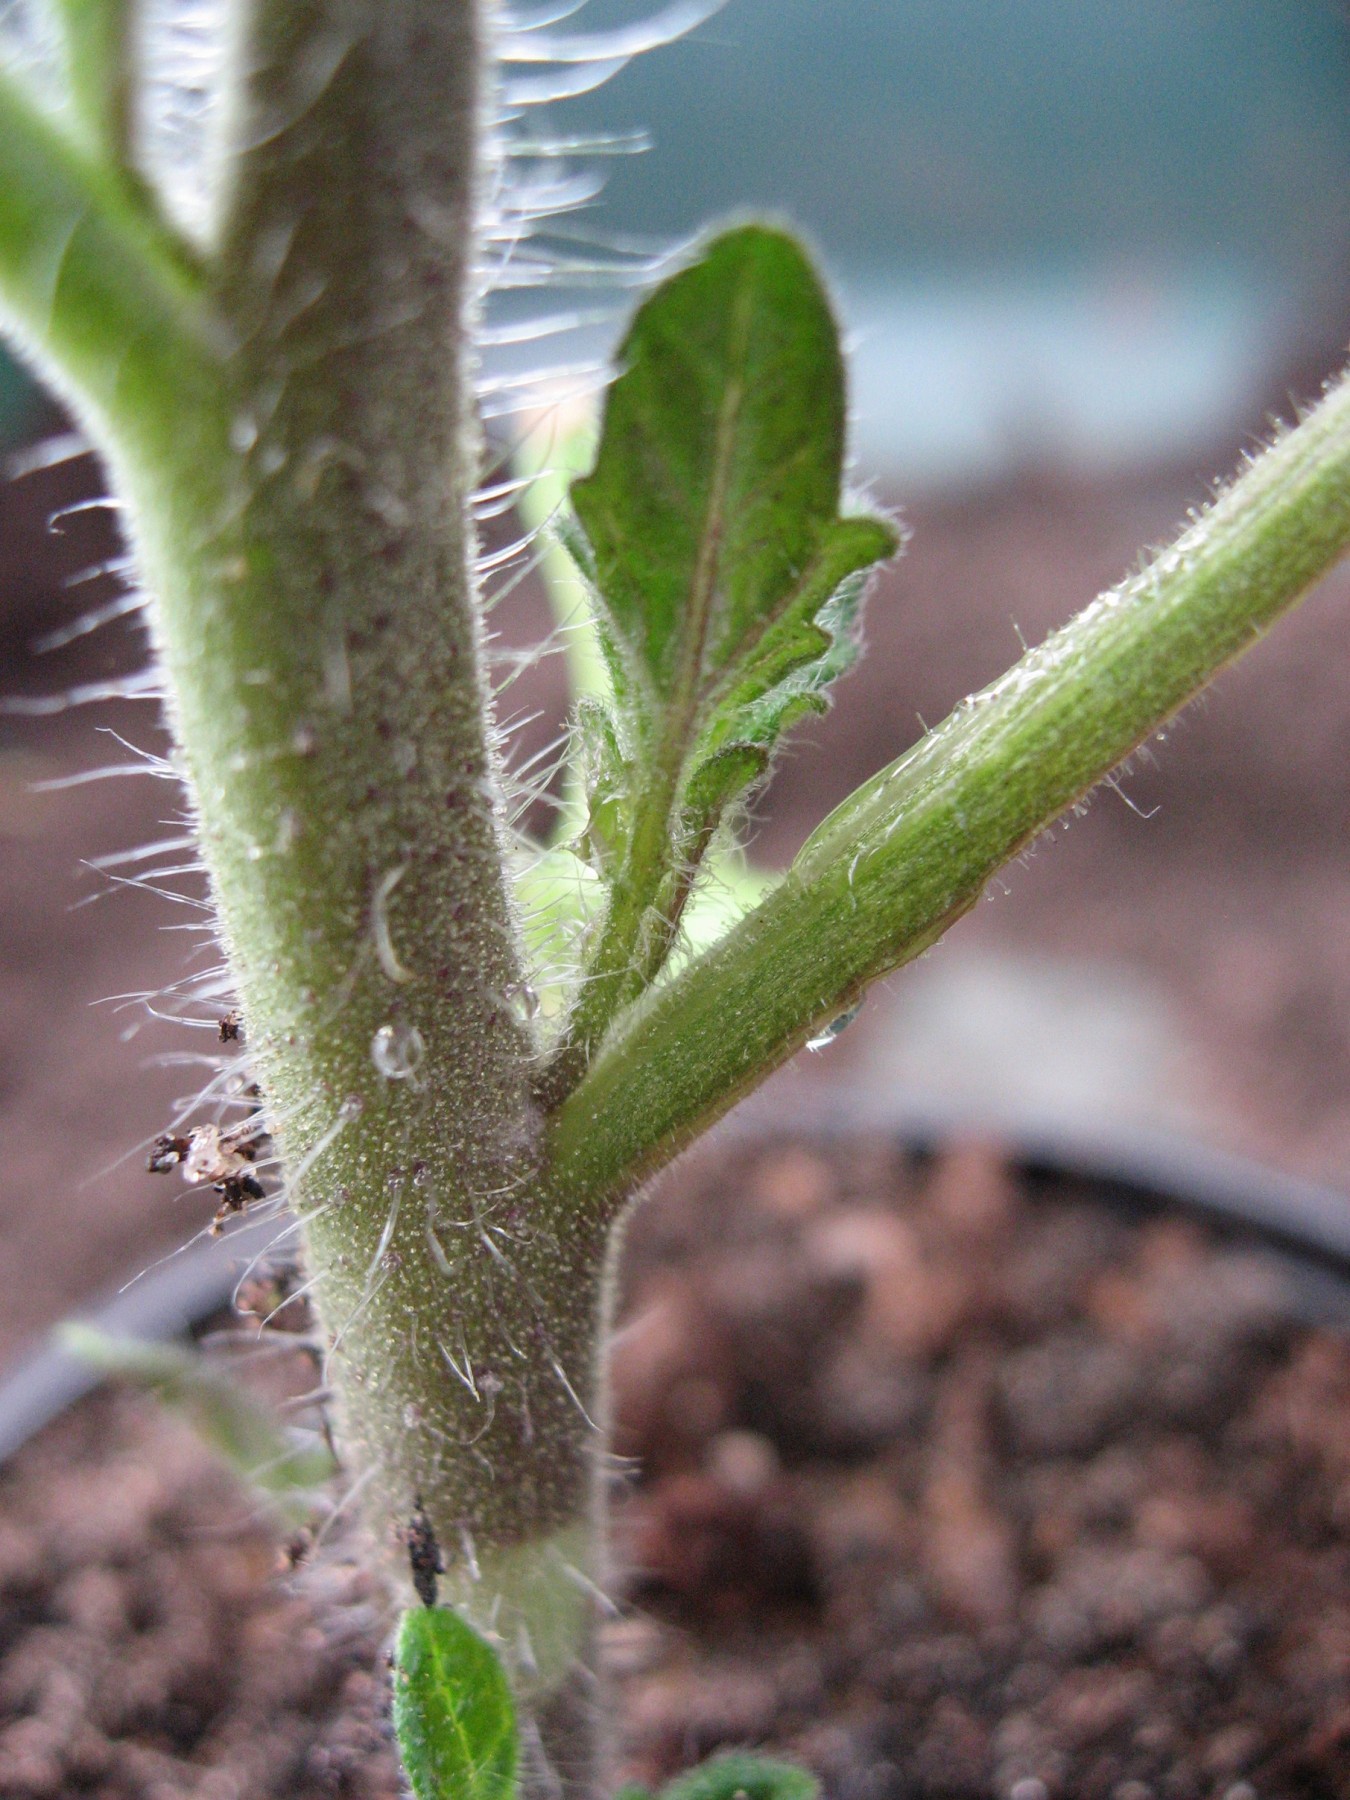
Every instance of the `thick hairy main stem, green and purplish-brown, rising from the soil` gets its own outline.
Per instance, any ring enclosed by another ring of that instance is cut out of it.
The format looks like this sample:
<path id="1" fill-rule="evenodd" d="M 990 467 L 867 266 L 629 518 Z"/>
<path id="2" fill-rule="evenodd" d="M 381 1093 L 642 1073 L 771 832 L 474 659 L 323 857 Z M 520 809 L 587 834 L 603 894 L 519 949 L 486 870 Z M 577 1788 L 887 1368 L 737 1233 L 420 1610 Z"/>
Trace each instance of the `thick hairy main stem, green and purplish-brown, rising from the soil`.
<path id="1" fill-rule="evenodd" d="M 475 0 L 261 0 L 211 405 L 121 470 L 367 1512 L 594 1786 L 603 1222 L 538 1174 L 468 499 Z M 551 1773 L 547 1769 L 551 1764 Z"/>

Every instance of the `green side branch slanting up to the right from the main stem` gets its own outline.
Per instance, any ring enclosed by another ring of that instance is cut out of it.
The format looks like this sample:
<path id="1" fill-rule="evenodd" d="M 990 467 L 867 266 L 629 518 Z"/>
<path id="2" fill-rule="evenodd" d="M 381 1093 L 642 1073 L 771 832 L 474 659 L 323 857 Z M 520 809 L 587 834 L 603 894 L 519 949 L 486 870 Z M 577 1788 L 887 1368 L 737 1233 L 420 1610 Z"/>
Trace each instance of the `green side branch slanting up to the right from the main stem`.
<path id="1" fill-rule="evenodd" d="M 1350 547 L 1350 380 L 1170 549 L 839 806 L 785 882 L 621 1019 L 553 1120 L 617 1206 L 868 983 L 925 950 Z"/>

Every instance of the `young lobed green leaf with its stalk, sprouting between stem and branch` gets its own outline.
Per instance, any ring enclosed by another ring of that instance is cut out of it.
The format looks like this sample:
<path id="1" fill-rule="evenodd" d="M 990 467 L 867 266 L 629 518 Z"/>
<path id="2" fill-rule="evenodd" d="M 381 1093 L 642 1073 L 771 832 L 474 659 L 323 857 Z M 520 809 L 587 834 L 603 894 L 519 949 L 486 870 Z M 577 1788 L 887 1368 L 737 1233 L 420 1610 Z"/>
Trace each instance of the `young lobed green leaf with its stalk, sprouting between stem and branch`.
<path id="1" fill-rule="evenodd" d="M 896 549 L 884 520 L 841 515 L 839 331 L 792 236 L 715 238 L 639 308 L 619 364 L 571 490 L 614 689 L 608 767 L 628 783 L 621 837 L 608 778 L 590 792 L 612 896 L 572 1021 L 581 1057 L 659 972 L 722 817 L 823 707 L 866 572 Z"/>

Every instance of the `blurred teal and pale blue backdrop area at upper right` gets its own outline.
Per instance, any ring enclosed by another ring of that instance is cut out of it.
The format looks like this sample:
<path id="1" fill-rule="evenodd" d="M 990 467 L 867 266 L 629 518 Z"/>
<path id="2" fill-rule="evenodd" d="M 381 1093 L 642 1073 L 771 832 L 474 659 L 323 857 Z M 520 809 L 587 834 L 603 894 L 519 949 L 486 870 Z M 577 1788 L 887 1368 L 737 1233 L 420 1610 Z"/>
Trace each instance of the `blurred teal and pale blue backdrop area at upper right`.
<path id="1" fill-rule="evenodd" d="M 1350 313 L 1337 0 L 729 0 L 547 122 L 652 140 L 580 234 L 806 229 L 860 464 L 904 490 L 1193 455 Z"/>

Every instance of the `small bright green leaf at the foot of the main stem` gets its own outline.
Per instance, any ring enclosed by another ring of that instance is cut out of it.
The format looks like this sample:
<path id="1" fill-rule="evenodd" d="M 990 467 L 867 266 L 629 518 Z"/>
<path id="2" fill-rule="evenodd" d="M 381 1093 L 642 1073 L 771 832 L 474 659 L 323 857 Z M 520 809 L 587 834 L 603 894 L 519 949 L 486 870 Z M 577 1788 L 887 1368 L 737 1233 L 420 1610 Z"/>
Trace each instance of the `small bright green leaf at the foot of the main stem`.
<path id="1" fill-rule="evenodd" d="M 506 1670 L 450 1607 L 419 1606 L 398 1624 L 394 1735 L 418 1800 L 515 1795 L 515 1708 Z"/>

